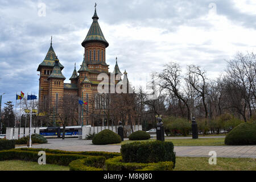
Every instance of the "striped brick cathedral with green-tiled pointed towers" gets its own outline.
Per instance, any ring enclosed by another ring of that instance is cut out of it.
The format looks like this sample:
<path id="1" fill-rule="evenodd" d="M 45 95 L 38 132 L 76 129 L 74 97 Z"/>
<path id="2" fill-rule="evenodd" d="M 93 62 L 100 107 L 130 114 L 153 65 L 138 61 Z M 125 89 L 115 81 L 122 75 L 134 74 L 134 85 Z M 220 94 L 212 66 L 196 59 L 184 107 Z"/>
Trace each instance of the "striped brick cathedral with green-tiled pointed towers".
<path id="1" fill-rule="evenodd" d="M 98 16 L 96 8 L 92 17 L 93 22 L 89 28 L 81 46 L 84 47 L 84 59 L 78 71 L 75 69 L 69 78 L 70 82 L 66 83 L 66 78 L 61 73 L 64 66 L 57 58 L 55 51 L 51 45 L 47 52 L 43 62 L 39 64 L 37 71 L 40 72 L 39 78 L 39 111 L 51 108 L 51 113 L 56 112 L 58 100 L 64 95 L 78 96 L 82 101 L 87 102 L 85 110 L 89 116 L 90 111 L 101 110 L 104 106 L 102 104 L 101 97 L 97 96 L 98 84 L 97 76 L 100 73 L 106 73 L 110 77 L 109 65 L 106 63 L 106 48 L 109 43 L 106 41 L 100 25 L 98 24 Z M 115 75 L 122 74 L 119 70 L 117 61 L 115 63 L 114 71 Z M 126 71 L 124 72 L 124 78 L 127 78 Z M 115 80 L 115 85 L 119 80 Z M 96 97 L 97 96 L 97 97 Z M 95 100 L 95 102 L 89 102 Z M 86 118 L 85 118 L 86 119 Z M 104 118 L 102 118 L 104 119 Z M 51 120 L 51 119 L 50 119 Z M 85 123 L 85 122 L 84 122 Z M 90 122 L 86 122 L 90 125 Z"/>

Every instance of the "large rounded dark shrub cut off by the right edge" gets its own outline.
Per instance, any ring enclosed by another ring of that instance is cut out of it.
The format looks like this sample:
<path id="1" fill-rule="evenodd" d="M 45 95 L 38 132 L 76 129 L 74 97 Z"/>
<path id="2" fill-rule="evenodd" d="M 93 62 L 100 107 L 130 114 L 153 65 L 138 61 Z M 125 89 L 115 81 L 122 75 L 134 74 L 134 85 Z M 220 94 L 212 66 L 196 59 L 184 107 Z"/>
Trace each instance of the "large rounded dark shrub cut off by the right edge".
<path id="1" fill-rule="evenodd" d="M 256 144 L 256 125 L 253 123 L 241 123 L 226 135 L 225 144 Z"/>

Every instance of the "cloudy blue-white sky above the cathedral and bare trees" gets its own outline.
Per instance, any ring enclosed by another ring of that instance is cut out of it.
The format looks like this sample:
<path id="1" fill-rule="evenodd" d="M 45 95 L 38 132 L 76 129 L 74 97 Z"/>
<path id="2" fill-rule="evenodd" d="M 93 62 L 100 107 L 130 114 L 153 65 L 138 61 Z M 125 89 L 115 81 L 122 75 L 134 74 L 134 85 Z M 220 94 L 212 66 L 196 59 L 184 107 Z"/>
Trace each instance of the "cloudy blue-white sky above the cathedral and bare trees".
<path id="1" fill-rule="evenodd" d="M 134 86 L 146 86 L 150 73 L 175 61 L 185 69 L 200 65 L 217 77 L 238 52 L 256 52 L 254 0 L 0 1 L 0 94 L 2 104 L 15 93 L 38 95 L 38 65 L 53 36 L 53 49 L 69 82 L 82 63 L 84 40 L 97 2 L 99 24 L 109 47 Z M 45 10 L 45 11 L 44 11 Z M 3 105 L 2 105 L 3 106 Z"/>

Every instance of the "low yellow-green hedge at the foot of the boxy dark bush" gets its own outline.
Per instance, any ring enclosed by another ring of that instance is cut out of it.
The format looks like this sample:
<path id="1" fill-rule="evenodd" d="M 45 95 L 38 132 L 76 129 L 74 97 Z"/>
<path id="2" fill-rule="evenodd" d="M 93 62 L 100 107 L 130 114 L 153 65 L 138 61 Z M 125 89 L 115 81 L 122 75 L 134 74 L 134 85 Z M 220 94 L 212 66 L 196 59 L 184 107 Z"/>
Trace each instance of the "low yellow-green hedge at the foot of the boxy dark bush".
<path id="1" fill-rule="evenodd" d="M 108 171 L 172 171 L 173 162 L 159 163 L 125 163 L 122 162 L 122 156 L 118 156 L 105 161 Z"/>

